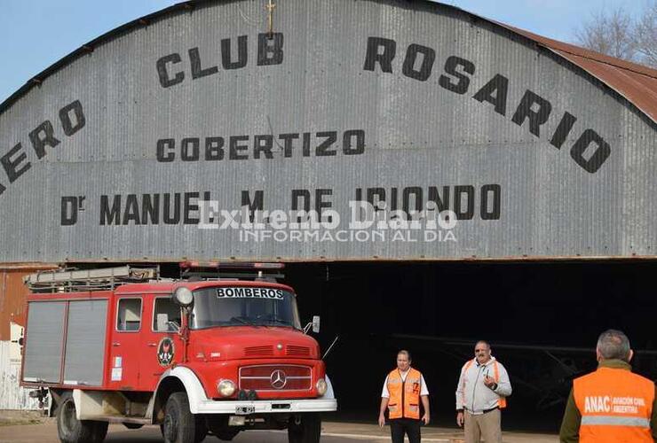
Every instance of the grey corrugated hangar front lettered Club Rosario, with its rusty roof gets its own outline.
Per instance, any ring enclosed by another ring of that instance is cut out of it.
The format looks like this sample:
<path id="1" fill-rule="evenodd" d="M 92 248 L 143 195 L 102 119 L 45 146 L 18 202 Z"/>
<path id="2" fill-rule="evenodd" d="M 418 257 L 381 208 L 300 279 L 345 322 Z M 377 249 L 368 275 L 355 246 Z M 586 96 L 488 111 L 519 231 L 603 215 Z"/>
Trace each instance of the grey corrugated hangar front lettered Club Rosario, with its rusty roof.
<path id="1" fill-rule="evenodd" d="M 278 0 L 269 35 L 265 3 L 135 20 L 0 105 L 0 262 L 656 256 L 654 70 L 425 1 Z"/>

